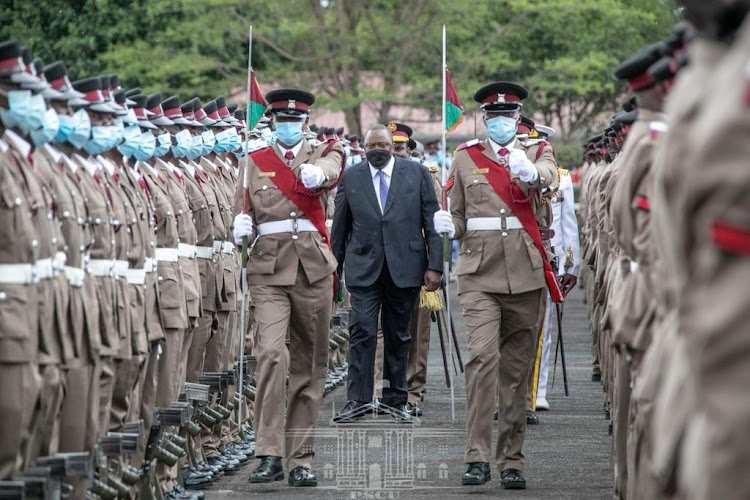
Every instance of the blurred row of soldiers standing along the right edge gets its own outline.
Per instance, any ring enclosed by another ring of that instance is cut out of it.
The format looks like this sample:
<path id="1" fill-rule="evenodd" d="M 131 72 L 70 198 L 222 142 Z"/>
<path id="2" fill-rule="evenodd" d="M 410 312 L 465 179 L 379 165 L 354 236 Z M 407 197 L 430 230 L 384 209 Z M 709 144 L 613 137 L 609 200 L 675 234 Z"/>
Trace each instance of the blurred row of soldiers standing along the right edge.
<path id="1" fill-rule="evenodd" d="M 616 69 L 632 97 L 585 145 L 592 377 L 615 498 L 748 498 L 750 2 L 681 3 L 689 22 Z"/>

